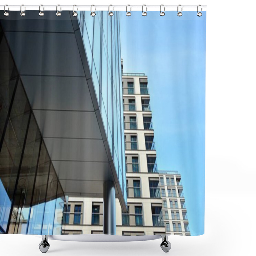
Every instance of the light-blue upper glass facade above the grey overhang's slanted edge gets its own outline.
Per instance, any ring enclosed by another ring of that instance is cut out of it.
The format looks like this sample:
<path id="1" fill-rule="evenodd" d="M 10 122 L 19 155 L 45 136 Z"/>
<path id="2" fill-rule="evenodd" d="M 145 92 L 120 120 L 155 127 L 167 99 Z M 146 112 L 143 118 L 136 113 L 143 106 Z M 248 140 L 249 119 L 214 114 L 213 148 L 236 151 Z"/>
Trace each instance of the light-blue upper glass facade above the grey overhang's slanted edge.
<path id="1" fill-rule="evenodd" d="M 78 12 L 78 22 L 90 66 L 104 128 L 118 180 L 127 203 L 124 158 L 124 118 L 119 12 Z"/>

